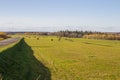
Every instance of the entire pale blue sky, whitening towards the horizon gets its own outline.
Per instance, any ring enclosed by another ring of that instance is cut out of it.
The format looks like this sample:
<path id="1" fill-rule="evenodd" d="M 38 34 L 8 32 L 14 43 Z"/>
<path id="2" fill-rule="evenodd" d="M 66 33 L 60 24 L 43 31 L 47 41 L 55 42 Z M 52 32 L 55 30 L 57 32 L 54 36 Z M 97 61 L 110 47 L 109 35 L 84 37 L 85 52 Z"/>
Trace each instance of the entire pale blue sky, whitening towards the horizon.
<path id="1" fill-rule="evenodd" d="M 120 32 L 120 0 L 0 0 L 0 31 Z"/>

